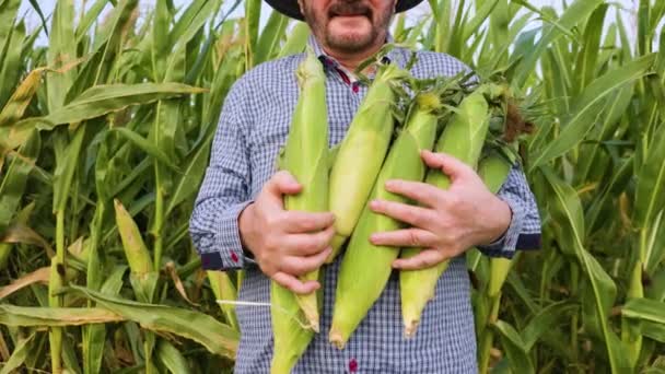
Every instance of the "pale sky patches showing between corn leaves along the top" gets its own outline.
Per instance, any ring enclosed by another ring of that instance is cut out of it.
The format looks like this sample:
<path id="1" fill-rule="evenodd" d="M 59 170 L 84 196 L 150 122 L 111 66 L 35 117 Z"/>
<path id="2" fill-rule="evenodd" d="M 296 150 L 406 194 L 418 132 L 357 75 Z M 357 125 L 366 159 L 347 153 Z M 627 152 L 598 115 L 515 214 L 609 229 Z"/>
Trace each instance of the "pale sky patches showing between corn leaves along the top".
<path id="1" fill-rule="evenodd" d="M 656 1 L 661 1 L 661 0 L 656 0 Z M 142 8 L 151 8 L 154 5 L 155 0 L 140 0 L 140 4 Z M 176 5 L 182 5 L 187 3 L 187 0 L 174 0 L 174 3 Z M 226 9 L 231 7 L 231 4 L 234 1 L 225 1 L 226 4 Z M 561 3 L 563 1 L 562 0 L 530 0 L 530 3 L 534 4 L 535 7 L 544 7 L 544 5 L 549 5 L 552 7 L 557 10 L 561 10 Z M 45 16 L 49 16 L 50 13 L 52 12 L 54 5 L 56 3 L 56 0 L 39 0 L 38 1 L 39 5 L 42 7 L 43 12 L 45 13 Z M 75 4 L 81 4 L 81 0 L 74 0 Z M 92 3 L 92 1 L 88 1 L 88 3 Z M 626 25 L 629 30 L 637 30 L 637 22 L 635 22 L 635 13 L 637 13 L 637 9 L 638 9 L 638 3 L 639 0 L 615 0 L 612 1 L 612 3 L 616 4 L 620 4 L 621 7 L 625 8 L 623 11 L 621 11 L 621 14 L 623 16 L 623 20 L 626 21 Z M 264 4 L 264 11 L 261 12 L 261 24 L 265 23 L 265 21 L 267 20 L 267 15 L 269 14 L 270 11 L 270 7 L 267 4 Z M 36 14 L 36 12 L 31 8 L 30 2 L 27 0 L 24 0 L 21 2 L 21 9 L 20 9 L 20 14 L 26 15 L 26 22 L 27 22 L 27 26 L 28 30 L 33 30 L 34 27 L 36 27 L 39 24 L 39 19 Z M 234 12 L 236 15 L 241 15 L 243 11 L 243 7 L 238 7 L 237 10 Z M 408 15 L 409 19 L 412 21 L 416 21 L 419 16 L 427 14 L 430 12 L 430 7 L 428 4 L 428 1 L 423 1 L 419 7 L 417 7 L 415 10 L 409 11 Z M 610 17 L 615 17 L 616 16 L 616 12 L 612 10 L 609 13 Z M 609 24 L 609 23 L 607 23 Z M 634 38 L 634 35 L 631 35 L 631 38 Z M 48 43 L 46 37 L 43 35 L 38 40 L 37 44 L 39 45 L 44 45 Z"/>

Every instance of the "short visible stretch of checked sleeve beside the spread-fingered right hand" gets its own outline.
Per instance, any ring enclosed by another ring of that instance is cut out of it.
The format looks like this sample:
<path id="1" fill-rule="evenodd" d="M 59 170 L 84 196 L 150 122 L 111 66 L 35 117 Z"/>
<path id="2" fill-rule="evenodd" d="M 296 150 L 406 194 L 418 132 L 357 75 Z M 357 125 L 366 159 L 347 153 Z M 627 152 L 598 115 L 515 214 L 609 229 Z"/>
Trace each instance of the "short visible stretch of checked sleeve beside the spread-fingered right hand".
<path id="1" fill-rule="evenodd" d="M 512 211 L 512 219 L 503 235 L 478 249 L 490 257 L 512 258 L 515 250 L 540 248 L 540 215 L 534 194 L 518 163 L 513 164 L 508 178 L 497 192 Z"/>

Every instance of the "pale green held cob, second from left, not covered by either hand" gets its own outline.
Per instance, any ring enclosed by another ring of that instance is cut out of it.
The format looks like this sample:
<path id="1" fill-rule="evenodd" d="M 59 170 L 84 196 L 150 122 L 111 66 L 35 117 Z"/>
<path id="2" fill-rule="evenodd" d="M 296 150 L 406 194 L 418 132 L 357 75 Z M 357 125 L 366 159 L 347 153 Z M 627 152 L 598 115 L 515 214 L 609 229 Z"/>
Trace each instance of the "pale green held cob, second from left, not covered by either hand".
<path id="1" fill-rule="evenodd" d="M 339 145 L 330 170 L 329 210 L 335 214 L 336 235 L 331 244 L 332 253 L 326 260 L 328 264 L 351 236 L 372 191 L 393 137 L 393 112 L 397 101 L 395 82 L 407 75 L 408 72 L 396 65 L 380 66 Z"/>

